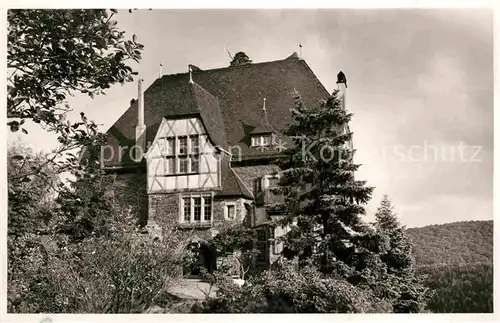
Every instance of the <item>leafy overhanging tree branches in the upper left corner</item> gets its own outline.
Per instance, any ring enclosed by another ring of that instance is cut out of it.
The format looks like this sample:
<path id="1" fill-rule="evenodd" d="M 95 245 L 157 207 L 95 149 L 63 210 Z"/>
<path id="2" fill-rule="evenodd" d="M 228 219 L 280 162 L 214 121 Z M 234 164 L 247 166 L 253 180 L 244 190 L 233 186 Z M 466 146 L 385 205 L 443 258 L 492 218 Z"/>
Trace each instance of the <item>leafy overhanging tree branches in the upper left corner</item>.
<path id="1" fill-rule="evenodd" d="M 114 20 L 112 10 L 9 10 L 7 45 L 7 117 L 11 131 L 26 120 L 40 124 L 57 135 L 61 147 L 52 161 L 64 152 L 95 144 L 99 139 L 94 122 L 66 120 L 71 110 L 68 96 L 102 94 L 115 83 L 133 80 L 137 74 L 129 61 L 141 58 L 143 45 Z M 78 165 L 78 158 L 57 164 L 61 171 Z M 11 178 L 9 174 L 9 179 Z"/>

